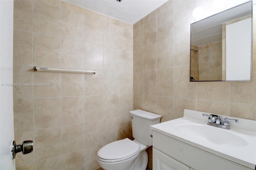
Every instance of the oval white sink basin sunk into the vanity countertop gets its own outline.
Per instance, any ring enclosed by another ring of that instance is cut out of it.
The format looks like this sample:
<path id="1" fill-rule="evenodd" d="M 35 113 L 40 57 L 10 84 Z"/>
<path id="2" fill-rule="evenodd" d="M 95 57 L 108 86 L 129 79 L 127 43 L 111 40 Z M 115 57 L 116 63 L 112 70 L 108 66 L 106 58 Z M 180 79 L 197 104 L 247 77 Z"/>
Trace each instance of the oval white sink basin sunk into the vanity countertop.
<path id="1" fill-rule="evenodd" d="M 190 136 L 191 138 L 197 138 L 204 142 L 210 142 L 212 144 L 220 144 L 223 146 L 242 147 L 248 143 L 242 137 L 233 134 L 229 130 L 210 127 L 208 125 L 176 125 L 178 132 Z"/>

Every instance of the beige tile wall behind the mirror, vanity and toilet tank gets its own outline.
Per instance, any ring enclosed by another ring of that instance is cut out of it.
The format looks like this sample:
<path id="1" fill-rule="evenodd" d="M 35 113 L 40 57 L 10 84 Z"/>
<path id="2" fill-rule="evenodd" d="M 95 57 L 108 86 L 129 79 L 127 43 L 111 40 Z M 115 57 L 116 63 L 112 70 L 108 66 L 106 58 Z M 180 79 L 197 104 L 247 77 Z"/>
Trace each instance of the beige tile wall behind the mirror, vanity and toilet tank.
<path id="1" fill-rule="evenodd" d="M 209 8 L 212 1 L 171 0 L 134 24 L 134 109 L 160 114 L 161 122 L 182 117 L 184 109 L 256 120 L 256 5 L 252 81 L 190 82 L 197 5 Z"/>

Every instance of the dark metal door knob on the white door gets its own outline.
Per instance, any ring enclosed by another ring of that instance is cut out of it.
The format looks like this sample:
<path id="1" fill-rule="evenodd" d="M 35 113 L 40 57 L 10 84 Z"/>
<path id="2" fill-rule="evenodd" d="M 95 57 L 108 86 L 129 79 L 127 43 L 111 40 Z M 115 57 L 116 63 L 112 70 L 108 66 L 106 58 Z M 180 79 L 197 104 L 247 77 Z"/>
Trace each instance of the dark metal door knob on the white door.
<path id="1" fill-rule="evenodd" d="M 16 153 L 28 154 L 33 152 L 33 140 L 23 141 L 22 144 L 16 145 L 15 140 L 12 142 L 12 159 L 15 159 Z"/>

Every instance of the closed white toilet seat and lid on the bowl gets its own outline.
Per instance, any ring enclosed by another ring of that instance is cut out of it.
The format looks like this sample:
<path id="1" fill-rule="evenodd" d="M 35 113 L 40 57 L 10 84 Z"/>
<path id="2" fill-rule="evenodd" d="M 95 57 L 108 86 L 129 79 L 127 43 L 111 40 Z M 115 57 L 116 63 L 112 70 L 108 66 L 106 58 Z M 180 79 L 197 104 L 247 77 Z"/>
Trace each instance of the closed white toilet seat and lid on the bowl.
<path id="1" fill-rule="evenodd" d="M 139 154 L 140 146 L 125 138 L 103 146 L 98 151 L 98 160 L 102 162 L 119 162 Z"/>

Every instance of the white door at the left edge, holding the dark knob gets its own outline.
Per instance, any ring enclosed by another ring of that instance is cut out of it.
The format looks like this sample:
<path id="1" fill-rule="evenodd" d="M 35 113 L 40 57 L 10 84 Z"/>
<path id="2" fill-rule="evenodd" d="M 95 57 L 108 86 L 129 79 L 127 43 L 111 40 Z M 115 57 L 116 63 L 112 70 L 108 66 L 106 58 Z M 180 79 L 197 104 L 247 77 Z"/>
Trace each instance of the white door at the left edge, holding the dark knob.
<path id="1" fill-rule="evenodd" d="M 14 170 L 12 96 L 13 0 L 0 0 L 0 170 Z"/>

